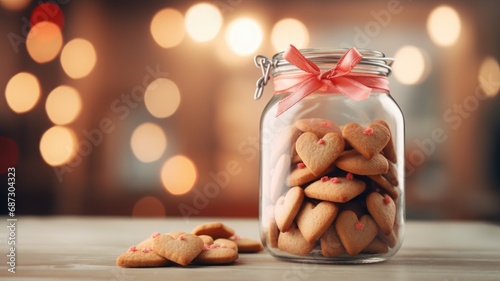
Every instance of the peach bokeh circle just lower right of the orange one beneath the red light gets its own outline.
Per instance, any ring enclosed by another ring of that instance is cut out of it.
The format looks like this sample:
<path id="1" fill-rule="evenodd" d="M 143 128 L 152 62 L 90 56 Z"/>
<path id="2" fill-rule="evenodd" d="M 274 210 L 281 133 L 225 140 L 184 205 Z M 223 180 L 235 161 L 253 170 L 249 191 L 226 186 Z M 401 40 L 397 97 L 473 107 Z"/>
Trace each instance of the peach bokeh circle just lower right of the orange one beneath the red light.
<path id="1" fill-rule="evenodd" d="M 97 55 L 92 43 L 76 38 L 64 45 L 61 52 L 61 65 L 66 74 L 73 78 L 83 78 L 94 69 Z"/>

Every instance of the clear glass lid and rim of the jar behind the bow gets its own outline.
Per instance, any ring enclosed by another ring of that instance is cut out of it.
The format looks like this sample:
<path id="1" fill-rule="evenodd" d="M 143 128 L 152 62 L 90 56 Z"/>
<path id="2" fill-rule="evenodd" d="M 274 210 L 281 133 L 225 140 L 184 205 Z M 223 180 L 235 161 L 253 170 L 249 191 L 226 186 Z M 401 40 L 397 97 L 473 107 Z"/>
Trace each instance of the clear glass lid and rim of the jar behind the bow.
<path id="1" fill-rule="evenodd" d="M 314 62 L 322 70 L 335 67 L 339 59 L 348 50 L 328 48 L 299 49 L 304 57 Z M 363 59 L 354 67 L 352 72 L 389 76 L 392 71 L 391 65 L 394 62 L 394 58 L 386 57 L 384 53 L 370 49 L 357 49 L 357 51 L 363 56 Z M 272 57 L 273 67 L 271 74 L 273 76 L 300 70 L 283 59 L 283 54 L 284 51 Z"/>

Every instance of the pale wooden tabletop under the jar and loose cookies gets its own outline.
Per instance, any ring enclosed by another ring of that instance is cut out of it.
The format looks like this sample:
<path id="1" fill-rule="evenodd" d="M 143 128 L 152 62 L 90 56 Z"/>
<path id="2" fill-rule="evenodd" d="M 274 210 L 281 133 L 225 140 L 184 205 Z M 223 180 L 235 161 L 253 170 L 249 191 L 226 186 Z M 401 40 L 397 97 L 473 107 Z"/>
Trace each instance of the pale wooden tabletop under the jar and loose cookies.
<path id="1" fill-rule="evenodd" d="M 209 221 L 259 237 L 255 219 L 20 217 L 14 234 L 0 228 L 0 280 L 500 280 L 500 226 L 485 222 L 409 221 L 398 254 L 377 264 L 294 263 L 261 252 L 240 254 L 230 266 L 115 265 L 118 255 L 152 232 L 190 232 Z M 9 235 L 16 241 L 15 273 L 6 263 Z"/>

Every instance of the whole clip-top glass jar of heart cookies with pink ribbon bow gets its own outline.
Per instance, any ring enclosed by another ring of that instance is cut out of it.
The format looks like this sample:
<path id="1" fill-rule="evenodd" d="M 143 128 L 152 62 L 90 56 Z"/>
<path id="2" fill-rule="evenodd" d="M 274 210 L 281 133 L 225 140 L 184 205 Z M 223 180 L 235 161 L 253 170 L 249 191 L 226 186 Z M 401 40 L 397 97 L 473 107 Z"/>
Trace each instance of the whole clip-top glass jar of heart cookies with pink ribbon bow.
<path id="1" fill-rule="evenodd" d="M 404 120 L 389 94 L 393 59 L 372 50 L 290 46 L 256 56 L 275 93 L 260 121 L 260 233 L 290 261 L 373 263 L 405 224 Z"/>

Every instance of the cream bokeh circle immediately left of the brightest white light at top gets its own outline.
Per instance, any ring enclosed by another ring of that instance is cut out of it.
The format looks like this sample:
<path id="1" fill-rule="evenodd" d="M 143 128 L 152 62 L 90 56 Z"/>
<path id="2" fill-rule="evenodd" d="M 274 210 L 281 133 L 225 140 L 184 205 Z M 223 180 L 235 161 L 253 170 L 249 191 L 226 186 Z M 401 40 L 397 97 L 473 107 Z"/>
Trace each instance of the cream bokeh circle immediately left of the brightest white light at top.
<path id="1" fill-rule="evenodd" d="M 219 33 L 222 26 L 222 15 L 219 9 L 212 4 L 196 4 L 186 12 L 184 25 L 189 37 L 194 41 L 210 41 Z"/>

